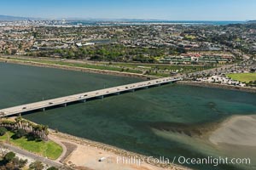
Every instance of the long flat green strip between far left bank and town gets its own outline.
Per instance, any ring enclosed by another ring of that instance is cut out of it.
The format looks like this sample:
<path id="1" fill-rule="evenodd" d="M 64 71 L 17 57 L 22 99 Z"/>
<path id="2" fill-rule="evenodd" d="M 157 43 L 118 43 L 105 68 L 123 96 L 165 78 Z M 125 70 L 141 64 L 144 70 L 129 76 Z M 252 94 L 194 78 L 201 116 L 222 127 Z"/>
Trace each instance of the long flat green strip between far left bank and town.
<path id="1" fill-rule="evenodd" d="M 114 63 L 114 62 L 101 62 L 97 64 L 92 63 L 76 63 L 72 61 L 58 61 L 58 60 L 49 60 L 49 59 L 22 59 L 15 58 L 16 60 L 22 61 L 32 61 L 50 65 L 65 65 L 81 68 L 90 68 L 97 70 L 106 70 L 106 71 L 121 71 L 121 72 L 130 72 L 138 73 L 145 75 L 152 75 L 158 77 L 168 77 L 171 72 L 178 73 L 189 73 L 194 71 L 203 71 L 207 69 L 212 69 L 212 65 L 160 65 L 160 64 L 145 64 L 145 63 Z"/>

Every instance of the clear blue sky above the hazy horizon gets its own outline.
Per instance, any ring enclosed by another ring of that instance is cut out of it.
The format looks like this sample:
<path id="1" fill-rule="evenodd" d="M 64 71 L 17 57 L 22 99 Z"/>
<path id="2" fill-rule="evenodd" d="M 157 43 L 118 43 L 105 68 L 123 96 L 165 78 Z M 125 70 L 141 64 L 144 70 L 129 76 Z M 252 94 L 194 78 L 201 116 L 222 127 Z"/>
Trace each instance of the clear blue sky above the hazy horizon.
<path id="1" fill-rule="evenodd" d="M 49 19 L 256 20 L 256 0 L 3 0 L 0 14 Z"/>

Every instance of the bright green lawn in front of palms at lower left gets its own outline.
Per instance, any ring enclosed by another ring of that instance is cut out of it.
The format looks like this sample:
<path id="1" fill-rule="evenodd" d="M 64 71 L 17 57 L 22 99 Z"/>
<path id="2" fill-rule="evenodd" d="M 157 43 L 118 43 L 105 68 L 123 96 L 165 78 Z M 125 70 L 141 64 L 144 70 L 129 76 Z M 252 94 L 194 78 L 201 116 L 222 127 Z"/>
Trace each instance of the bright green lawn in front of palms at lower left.
<path id="1" fill-rule="evenodd" d="M 0 136 L 0 141 L 9 141 L 10 144 L 14 144 L 24 150 L 37 153 L 41 156 L 47 156 L 48 158 L 55 160 L 61 156 L 62 148 L 59 144 L 49 140 L 27 140 L 25 137 L 21 139 L 12 139 L 14 135 L 12 132 L 7 132 L 3 136 Z"/>

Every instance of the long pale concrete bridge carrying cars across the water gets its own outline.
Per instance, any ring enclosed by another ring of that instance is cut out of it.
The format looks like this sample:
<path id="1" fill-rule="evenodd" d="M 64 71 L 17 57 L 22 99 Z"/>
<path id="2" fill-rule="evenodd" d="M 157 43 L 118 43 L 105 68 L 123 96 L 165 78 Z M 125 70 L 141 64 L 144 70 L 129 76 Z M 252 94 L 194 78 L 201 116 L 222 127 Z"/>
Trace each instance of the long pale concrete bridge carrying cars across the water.
<path id="1" fill-rule="evenodd" d="M 26 105 L 18 105 L 15 107 L 9 107 L 3 110 L 0 110 L 0 117 L 3 116 L 17 116 L 21 115 L 22 113 L 26 113 L 28 111 L 45 111 L 46 108 L 51 108 L 54 106 L 64 106 L 66 107 L 68 104 L 73 102 L 86 102 L 88 99 L 103 99 L 109 95 L 119 95 L 125 92 L 134 92 L 137 89 L 142 88 L 149 88 L 149 87 L 156 87 L 163 84 L 177 82 L 180 81 L 181 78 L 172 78 L 172 77 L 165 77 L 159 78 L 154 80 L 149 80 L 145 82 L 136 82 L 131 84 L 126 84 L 122 86 L 117 86 L 113 88 L 104 88 L 100 90 L 95 90 L 91 92 L 86 92 L 82 94 L 73 94 L 61 98 L 55 99 L 47 99 L 31 104 Z"/>

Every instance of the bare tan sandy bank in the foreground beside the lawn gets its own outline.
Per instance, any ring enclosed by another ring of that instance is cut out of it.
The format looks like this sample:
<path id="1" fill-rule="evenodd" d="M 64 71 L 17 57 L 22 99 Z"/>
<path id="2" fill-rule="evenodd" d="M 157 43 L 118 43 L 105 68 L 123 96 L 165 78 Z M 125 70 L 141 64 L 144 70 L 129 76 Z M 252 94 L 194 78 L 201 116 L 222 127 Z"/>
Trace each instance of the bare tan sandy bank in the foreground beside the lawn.
<path id="1" fill-rule="evenodd" d="M 136 162 L 117 162 L 119 157 L 124 158 L 136 158 L 141 160 L 148 160 L 148 156 L 139 155 L 137 153 L 122 150 L 117 147 L 102 144 L 89 139 L 82 139 L 67 133 L 55 132 L 49 130 L 50 139 L 61 143 L 68 143 L 76 145 L 75 149 L 71 151 L 70 155 L 63 160 L 67 166 L 78 168 L 89 168 L 89 169 L 113 169 L 118 170 L 120 168 L 126 168 L 131 170 L 161 170 L 161 169 L 172 169 L 172 170 L 186 170 L 187 167 L 181 167 L 174 164 L 163 164 L 155 163 L 153 159 L 137 164 Z M 67 150 L 69 150 L 67 148 Z M 105 157 L 106 161 L 98 161 L 100 158 Z"/>

